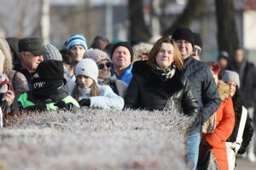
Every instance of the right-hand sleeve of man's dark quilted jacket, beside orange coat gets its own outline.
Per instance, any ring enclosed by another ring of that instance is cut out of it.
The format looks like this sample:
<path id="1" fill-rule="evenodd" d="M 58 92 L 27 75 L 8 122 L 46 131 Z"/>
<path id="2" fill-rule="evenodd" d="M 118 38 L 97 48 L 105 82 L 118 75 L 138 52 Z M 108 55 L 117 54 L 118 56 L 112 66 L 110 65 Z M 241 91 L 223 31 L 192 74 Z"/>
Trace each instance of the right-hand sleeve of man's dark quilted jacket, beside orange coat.
<path id="1" fill-rule="evenodd" d="M 217 85 L 214 82 L 214 79 L 212 77 L 212 72 L 210 71 L 208 66 L 205 70 L 206 70 L 206 73 L 205 73 L 206 78 L 205 78 L 205 81 L 202 83 L 202 88 L 201 88 L 202 89 L 201 98 L 202 98 L 203 107 L 201 107 L 199 111 L 201 124 L 203 124 L 204 122 L 207 122 L 207 120 L 212 116 L 212 114 L 218 110 L 218 107 L 221 102 L 221 99 L 218 96 Z"/>

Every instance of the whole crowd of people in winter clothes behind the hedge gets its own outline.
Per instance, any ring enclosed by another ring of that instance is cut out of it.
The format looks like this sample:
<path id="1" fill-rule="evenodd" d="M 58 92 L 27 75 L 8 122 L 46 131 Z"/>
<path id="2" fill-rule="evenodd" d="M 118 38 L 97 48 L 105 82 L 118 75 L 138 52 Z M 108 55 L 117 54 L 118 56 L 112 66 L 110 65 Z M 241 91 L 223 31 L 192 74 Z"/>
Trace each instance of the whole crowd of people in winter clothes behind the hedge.
<path id="1" fill-rule="evenodd" d="M 32 111 L 172 111 L 191 117 L 191 169 L 231 170 L 246 152 L 256 161 L 250 144 L 256 70 L 242 48 L 233 60 L 221 51 L 218 63 L 204 62 L 200 35 L 182 27 L 153 44 L 96 36 L 89 47 L 81 34 L 63 44 L 58 50 L 38 37 L 0 38 L 3 126 Z M 202 161 L 208 153 L 213 163 Z"/>

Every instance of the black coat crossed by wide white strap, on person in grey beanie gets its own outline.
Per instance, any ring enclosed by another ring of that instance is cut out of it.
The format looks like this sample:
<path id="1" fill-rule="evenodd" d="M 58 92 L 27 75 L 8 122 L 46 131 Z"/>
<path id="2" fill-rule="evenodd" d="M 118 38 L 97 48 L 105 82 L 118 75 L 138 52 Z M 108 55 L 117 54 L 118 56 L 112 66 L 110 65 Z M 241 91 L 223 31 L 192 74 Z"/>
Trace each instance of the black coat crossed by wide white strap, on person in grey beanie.
<path id="1" fill-rule="evenodd" d="M 236 121 L 235 121 L 235 127 L 233 129 L 233 132 L 231 133 L 230 138 L 227 139 L 227 142 L 236 141 L 236 136 L 238 133 L 238 128 L 241 120 L 242 100 L 241 100 L 240 92 L 238 91 L 237 88 L 236 88 L 236 94 L 234 95 L 232 100 L 233 100 L 233 105 L 235 110 Z M 246 121 L 244 132 L 242 135 L 241 147 L 240 147 L 240 150 L 238 150 L 238 154 L 243 154 L 245 152 L 252 137 L 253 137 L 253 120 L 250 118 L 249 115 L 247 115 L 247 121 Z"/>

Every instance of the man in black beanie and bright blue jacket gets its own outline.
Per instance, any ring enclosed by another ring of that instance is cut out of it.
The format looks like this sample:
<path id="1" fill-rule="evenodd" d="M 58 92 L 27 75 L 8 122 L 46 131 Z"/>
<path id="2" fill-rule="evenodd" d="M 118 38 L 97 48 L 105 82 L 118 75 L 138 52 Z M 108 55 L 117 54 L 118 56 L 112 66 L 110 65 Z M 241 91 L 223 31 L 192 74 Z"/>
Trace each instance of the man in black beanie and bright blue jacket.
<path id="1" fill-rule="evenodd" d="M 113 45 L 111 51 L 113 72 L 119 80 L 124 81 L 128 85 L 132 77 L 132 58 L 133 50 L 129 42 L 118 42 Z"/>

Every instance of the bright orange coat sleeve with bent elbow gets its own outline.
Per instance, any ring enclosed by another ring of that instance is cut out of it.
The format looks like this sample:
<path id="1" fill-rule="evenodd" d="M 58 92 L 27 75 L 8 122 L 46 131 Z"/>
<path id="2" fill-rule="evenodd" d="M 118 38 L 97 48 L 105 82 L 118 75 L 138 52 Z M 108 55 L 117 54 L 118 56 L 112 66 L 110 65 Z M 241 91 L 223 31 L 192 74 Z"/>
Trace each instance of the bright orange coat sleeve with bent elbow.
<path id="1" fill-rule="evenodd" d="M 224 107 L 219 107 L 217 114 L 222 115 L 222 119 L 218 122 L 213 133 L 204 135 L 204 139 L 206 139 L 210 145 L 216 146 L 216 144 L 220 144 L 229 139 L 235 126 L 235 111 L 233 109 L 232 99 L 226 99 L 221 105 L 224 105 Z M 219 115 L 217 115 L 217 117 L 219 117 Z"/>

